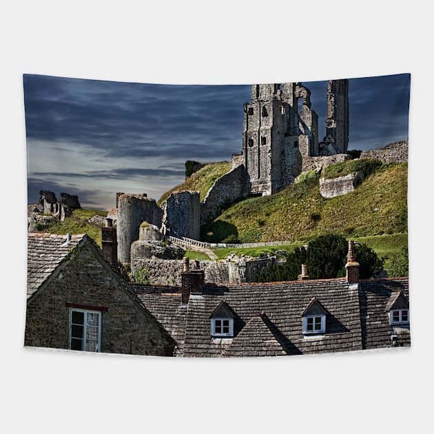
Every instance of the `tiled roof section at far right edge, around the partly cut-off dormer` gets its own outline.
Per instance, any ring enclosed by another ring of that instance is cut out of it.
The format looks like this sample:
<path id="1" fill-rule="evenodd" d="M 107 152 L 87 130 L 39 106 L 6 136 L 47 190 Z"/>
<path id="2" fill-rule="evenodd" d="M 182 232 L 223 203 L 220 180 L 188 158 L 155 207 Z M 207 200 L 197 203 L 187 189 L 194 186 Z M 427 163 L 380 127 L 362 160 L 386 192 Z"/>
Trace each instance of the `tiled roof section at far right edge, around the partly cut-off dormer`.
<path id="1" fill-rule="evenodd" d="M 409 279 L 362 280 L 360 284 L 360 316 L 364 349 L 391 347 L 391 335 L 397 335 L 398 345 L 410 345 L 407 326 L 391 326 L 387 305 L 402 291 L 409 300 Z"/>

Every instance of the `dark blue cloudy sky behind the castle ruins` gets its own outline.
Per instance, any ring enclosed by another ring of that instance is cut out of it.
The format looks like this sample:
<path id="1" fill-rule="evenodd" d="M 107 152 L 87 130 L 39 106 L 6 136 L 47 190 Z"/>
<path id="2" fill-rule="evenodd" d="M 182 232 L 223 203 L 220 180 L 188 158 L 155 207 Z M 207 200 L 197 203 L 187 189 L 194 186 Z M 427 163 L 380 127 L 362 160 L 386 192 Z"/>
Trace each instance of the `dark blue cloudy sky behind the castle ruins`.
<path id="1" fill-rule="evenodd" d="M 158 200 L 184 180 L 186 160 L 241 152 L 249 85 L 154 85 L 25 74 L 28 201 L 39 190 L 110 209 L 116 192 Z M 327 81 L 303 82 L 325 133 Z M 349 80 L 349 149 L 408 136 L 409 74 Z"/>

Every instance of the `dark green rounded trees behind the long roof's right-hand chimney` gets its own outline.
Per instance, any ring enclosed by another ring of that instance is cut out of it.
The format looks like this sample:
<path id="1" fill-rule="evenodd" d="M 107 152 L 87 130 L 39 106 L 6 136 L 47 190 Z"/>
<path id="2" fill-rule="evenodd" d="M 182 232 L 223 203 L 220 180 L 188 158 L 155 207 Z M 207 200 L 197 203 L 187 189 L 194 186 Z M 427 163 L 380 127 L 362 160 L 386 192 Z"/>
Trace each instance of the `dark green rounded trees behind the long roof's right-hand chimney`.
<path id="1" fill-rule="evenodd" d="M 362 243 L 355 243 L 355 259 L 360 264 L 360 278 L 378 276 L 384 265 L 384 258 L 378 258 L 375 251 Z M 312 279 L 337 278 L 345 276 L 348 242 L 344 236 L 327 234 L 313 238 L 307 249 L 296 249 L 287 256 L 285 264 L 273 265 L 258 271 L 256 282 L 278 282 L 296 280 L 301 265 L 306 264 Z"/>

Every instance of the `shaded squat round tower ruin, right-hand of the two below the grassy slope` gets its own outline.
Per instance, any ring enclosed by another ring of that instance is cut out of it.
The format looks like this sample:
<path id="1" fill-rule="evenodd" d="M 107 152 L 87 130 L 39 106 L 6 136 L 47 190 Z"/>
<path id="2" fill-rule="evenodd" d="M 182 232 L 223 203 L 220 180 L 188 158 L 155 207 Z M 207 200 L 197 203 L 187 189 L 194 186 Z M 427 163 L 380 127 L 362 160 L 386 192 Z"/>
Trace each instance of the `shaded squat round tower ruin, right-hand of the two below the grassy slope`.
<path id="1" fill-rule="evenodd" d="M 161 209 L 163 235 L 200 238 L 199 192 L 174 192 L 163 202 Z"/>

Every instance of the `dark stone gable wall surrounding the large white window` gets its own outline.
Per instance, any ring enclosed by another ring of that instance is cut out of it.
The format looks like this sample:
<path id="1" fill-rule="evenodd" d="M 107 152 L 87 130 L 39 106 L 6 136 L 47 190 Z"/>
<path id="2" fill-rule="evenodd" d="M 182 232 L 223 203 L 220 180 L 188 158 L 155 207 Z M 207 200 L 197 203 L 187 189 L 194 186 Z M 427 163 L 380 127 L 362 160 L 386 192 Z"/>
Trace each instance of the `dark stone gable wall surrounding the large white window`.
<path id="1" fill-rule="evenodd" d="M 90 241 L 28 300 L 25 346 L 68 349 L 68 304 L 103 309 L 101 352 L 173 355 L 174 342 Z M 96 309 L 94 309 L 96 310 Z"/>

